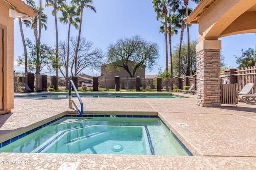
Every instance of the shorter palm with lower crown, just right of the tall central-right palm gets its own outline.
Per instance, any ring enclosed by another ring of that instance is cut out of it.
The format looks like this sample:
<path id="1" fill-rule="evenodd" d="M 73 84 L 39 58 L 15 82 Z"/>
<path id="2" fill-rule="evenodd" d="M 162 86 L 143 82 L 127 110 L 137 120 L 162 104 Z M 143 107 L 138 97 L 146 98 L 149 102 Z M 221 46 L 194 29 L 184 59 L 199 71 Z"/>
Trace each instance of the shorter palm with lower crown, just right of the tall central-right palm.
<path id="1" fill-rule="evenodd" d="M 178 17 L 176 16 L 176 14 L 172 14 L 171 12 L 169 12 L 169 16 L 167 17 L 167 33 L 168 33 L 168 38 L 169 38 L 169 46 L 170 46 L 170 65 L 171 65 L 171 78 L 173 78 L 173 63 L 172 63 L 172 36 L 174 34 L 178 34 L 178 27 L 180 27 L 179 25 L 179 20 Z M 162 26 L 160 26 L 160 33 L 164 33 L 164 26 L 165 23 L 163 21 L 161 21 Z M 171 84 L 171 89 L 172 89 L 172 84 Z"/>

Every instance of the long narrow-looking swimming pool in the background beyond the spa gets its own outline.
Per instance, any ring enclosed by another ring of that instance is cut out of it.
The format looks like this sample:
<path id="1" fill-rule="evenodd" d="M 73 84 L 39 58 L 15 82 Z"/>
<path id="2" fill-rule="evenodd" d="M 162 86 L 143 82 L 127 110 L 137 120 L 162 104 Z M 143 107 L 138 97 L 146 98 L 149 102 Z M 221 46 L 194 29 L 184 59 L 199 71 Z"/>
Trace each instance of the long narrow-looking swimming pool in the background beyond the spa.
<path id="1" fill-rule="evenodd" d="M 184 98 L 171 93 L 79 93 L 81 98 Z M 68 98 L 68 93 L 18 94 L 14 97 Z M 72 94 L 72 97 L 77 97 Z"/>

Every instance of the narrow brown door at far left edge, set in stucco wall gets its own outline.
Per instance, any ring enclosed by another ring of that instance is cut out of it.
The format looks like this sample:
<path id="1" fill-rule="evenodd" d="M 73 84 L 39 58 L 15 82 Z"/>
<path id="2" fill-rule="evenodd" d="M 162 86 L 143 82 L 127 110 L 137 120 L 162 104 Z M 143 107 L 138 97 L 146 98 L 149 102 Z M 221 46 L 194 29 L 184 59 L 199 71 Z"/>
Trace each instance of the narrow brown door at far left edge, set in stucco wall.
<path id="1" fill-rule="evenodd" d="M 4 29 L 0 28 L 0 39 L 4 39 Z M 0 41 L 0 110 L 3 109 L 4 97 L 4 42 Z"/>

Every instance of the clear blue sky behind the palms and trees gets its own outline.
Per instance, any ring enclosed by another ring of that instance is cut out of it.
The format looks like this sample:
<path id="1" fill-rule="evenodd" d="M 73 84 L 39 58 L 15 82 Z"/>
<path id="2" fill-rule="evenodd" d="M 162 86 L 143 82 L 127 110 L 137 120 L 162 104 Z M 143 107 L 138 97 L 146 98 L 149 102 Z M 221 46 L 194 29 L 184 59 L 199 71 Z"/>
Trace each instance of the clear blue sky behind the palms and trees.
<path id="1" fill-rule="evenodd" d="M 39 0 L 34 0 L 39 6 Z M 66 0 L 67 3 L 70 0 Z M 44 6 L 45 0 L 42 0 Z M 156 20 L 156 13 L 152 7 L 152 0 L 93 0 L 96 13 L 86 8 L 84 10 L 81 35 L 94 43 L 106 52 L 110 43 L 115 43 L 118 38 L 132 37 L 140 35 L 147 41 L 153 41 L 158 44 L 160 57 L 153 70 L 146 68 L 146 74 L 158 74 L 158 68 L 165 68 L 165 37 L 159 33 L 160 21 Z M 189 2 L 190 8 L 194 9 L 197 4 Z M 55 22 L 51 12 L 53 7 L 44 7 L 44 13 L 48 15 L 48 29 L 42 29 L 41 42 L 50 45 L 56 44 Z M 59 18 L 61 13 L 58 12 Z M 31 28 L 26 28 L 23 24 L 24 37 L 35 41 L 34 33 Z M 77 36 L 78 29 L 71 27 L 71 35 Z M 64 41 L 68 37 L 68 25 L 58 22 L 59 41 Z M 190 41 L 198 40 L 198 24 L 192 24 L 190 27 Z M 222 55 L 228 67 L 236 68 L 236 59 L 241 56 L 241 50 L 247 50 L 249 47 L 255 49 L 256 34 L 240 34 L 219 38 L 222 41 Z M 184 31 L 183 41 L 187 41 L 187 31 Z M 172 37 L 172 45 L 180 42 L 180 30 L 178 35 Z M 168 45 L 169 46 L 169 45 Z M 169 49 L 168 49 L 169 51 Z M 14 69 L 24 72 L 24 66 L 17 66 L 18 56 L 22 56 L 24 49 L 20 35 L 18 19 L 14 20 Z M 168 54 L 170 56 L 170 54 Z M 163 71 L 163 70 L 162 70 Z M 42 73 L 45 70 L 42 71 Z M 84 74 L 99 76 L 99 72 L 90 72 L 84 70 Z M 45 73 L 48 74 L 48 73 Z M 59 73 L 59 76 L 61 74 Z"/>

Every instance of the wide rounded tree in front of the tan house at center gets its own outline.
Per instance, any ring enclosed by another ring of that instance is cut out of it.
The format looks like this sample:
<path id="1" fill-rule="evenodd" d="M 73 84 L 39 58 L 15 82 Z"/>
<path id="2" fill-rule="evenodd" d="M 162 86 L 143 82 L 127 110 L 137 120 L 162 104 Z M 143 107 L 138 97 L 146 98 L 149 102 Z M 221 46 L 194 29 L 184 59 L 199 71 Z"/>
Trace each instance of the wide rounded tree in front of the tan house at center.
<path id="1" fill-rule="evenodd" d="M 144 65 L 149 70 L 156 64 L 159 58 L 159 47 L 156 43 L 146 41 L 139 35 L 119 38 L 116 43 L 108 45 L 108 59 L 112 70 L 123 67 L 130 77 L 134 77 L 136 71 Z M 134 66 L 128 67 L 128 62 L 133 61 Z"/>

